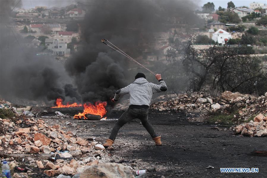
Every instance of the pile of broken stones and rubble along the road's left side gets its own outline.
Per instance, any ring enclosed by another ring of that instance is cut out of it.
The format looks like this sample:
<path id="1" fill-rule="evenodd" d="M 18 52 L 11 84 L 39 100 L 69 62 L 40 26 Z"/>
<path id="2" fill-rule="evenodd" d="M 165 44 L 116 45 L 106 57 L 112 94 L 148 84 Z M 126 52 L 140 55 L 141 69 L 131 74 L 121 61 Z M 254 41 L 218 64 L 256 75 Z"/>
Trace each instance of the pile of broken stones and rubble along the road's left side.
<path id="1" fill-rule="evenodd" d="M 5 131 L 0 135 L 0 157 L 10 162 L 15 171 L 12 177 L 77 178 L 88 169 L 86 166 L 110 162 L 108 150 L 113 147 L 105 149 L 102 143 L 77 137 L 61 125 L 50 126 L 40 118 L 29 116 L 25 111 L 30 112 L 30 108 L 15 108 L 11 103 L 1 102 L 1 109 L 15 114 L 12 118 L 0 118 L 0 127 Z M 130 175 L 127 167 L 119 167 Z"/>

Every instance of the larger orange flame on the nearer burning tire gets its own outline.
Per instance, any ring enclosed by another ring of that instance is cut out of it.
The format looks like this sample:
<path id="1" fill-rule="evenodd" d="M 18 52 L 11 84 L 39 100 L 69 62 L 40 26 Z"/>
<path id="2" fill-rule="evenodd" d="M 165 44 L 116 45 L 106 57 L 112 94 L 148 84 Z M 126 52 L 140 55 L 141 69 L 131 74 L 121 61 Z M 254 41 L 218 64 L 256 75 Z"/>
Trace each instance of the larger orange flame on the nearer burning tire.
<path id="1" fill-rule="evenodd" d="M 97 101 L 95 105 L 91 103 L 87 103 L 87 104 L 84 103 L 83 113 L 75 114 L 73 118 L 74 119 L 81 119 L 81 118 L 87 119 L 85 116 L 86 114 L 99 115 L 102 118 L 107 113 L 107 110 L 105 109 L 106 106 L 107 106 L 106 101 L 105 102 Z"/>

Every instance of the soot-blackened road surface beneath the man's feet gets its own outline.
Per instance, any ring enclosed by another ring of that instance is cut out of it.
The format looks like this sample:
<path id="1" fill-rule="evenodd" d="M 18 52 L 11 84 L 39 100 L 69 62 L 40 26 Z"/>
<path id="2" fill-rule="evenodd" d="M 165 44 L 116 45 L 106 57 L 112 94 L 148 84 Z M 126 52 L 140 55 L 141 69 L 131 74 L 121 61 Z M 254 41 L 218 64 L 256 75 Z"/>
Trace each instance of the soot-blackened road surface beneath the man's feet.
<path id="1" fill-rule="evenodd" d="M 118 119 L 121 114 L 113 113 L 108 118 Z M 266 157 L 254 156 L 251 152 L 267 150 L 267 137 L 235 136 L 229 127 L 220 127 L 227 131 L 214 130 L 211 129 L 214 126 L 188 122 L 186 118 L 177 113 L 149 113 L 149 122 L 162 136 L 161 147 L 154 146 L 138 119 L 133 120 L 119 131 L 111 154 L 121 156 L 121 162 L 126 165 L 129 165 L 127 161 L 137 160 L 133 170 L 157 168 L 148 173 L 149 177 L 266 177 Z M 78 136 L 94 135 L 102 143 L 116 122 L 67 120 L 87 125 Z M 208 166 L 214 168 L 207 169 Z M 220 168 L 246 167 L 259 168 L 259 173 L 220 173 Z"/>

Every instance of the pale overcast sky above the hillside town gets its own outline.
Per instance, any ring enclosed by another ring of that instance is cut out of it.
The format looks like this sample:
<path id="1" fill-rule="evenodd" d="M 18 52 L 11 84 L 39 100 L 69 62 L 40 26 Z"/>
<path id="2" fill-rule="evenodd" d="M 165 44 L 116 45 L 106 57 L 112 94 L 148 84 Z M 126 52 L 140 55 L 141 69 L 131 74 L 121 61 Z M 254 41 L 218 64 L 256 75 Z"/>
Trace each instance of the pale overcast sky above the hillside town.
<path id="1" fill-rule="evenodd" d="M 221 6 L 222 8 L 227 8 L 227 2 L 229 2 L 230 0 L 210 0 L 210 1 L 192 0 L 192 1 L 195 1 L 195 3 L 199 5 L 199 7 L 202 7 L 203 4 L 206 4 L 207 2 L 213 2 L 215 5 L 215 9 L 218 9 L 219 6 Z M 232 0 L 232 1 L 236 7 L 239 6 L 249 7 L 249 3 L 252 2 L 267 4 L 267 0 Z M 23 3 L 23 8 L 25 9 L 34 8 L 35 6 L 47 6 L 48 8 L 50 8 L 50 7 L 65 7 L 70 4 L 75 4 L 75 0 L 22 0 L 22 3 Z"/>

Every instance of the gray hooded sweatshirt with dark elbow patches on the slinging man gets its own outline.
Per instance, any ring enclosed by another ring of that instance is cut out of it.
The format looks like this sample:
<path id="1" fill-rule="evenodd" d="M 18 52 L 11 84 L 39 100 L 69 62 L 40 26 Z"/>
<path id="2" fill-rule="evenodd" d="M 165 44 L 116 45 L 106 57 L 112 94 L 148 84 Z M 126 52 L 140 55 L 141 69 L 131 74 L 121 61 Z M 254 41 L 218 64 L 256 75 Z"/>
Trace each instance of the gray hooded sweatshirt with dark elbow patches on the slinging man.
<path id="1" fill-rule="evenodd" d="M 133 84 L 129 84 L 128 86 L 119 89 L 115 94 L 114 100 L 119 100 L 124 94 L 130 94 L 130 105 L 145 105 L 149 107 L 152 94 L 165 92 L 166 90 L 167 86 L 162 79 L 159 80 L 159 85 L 157 85 L 149 83 L 145 78 L 137 78 Z"/>

